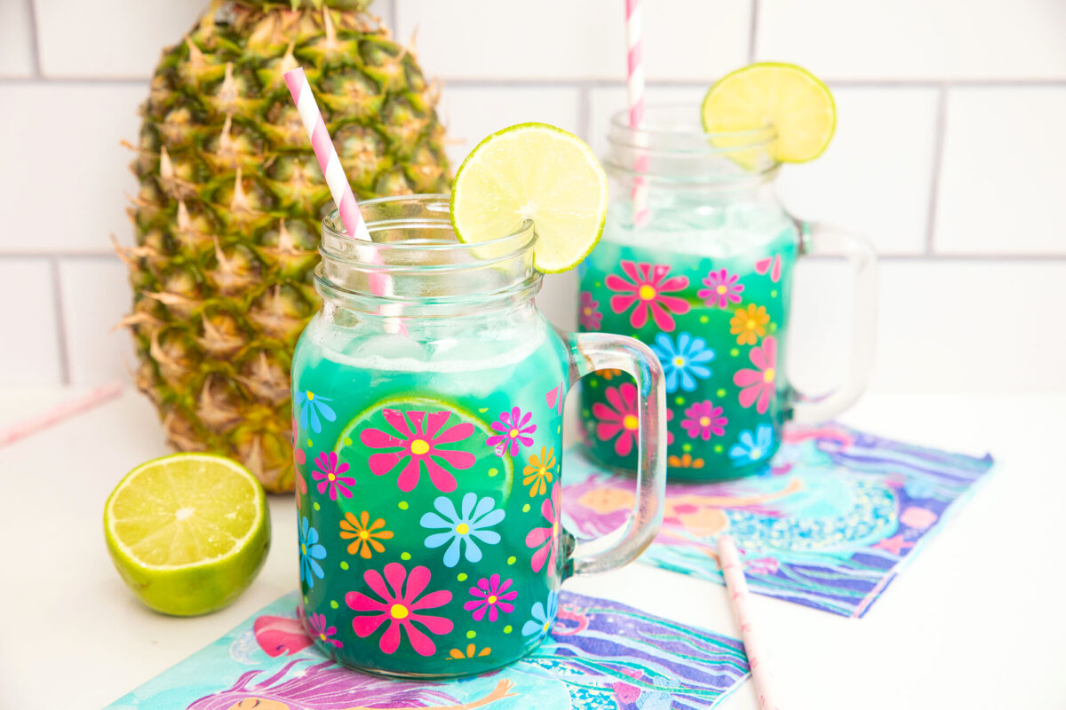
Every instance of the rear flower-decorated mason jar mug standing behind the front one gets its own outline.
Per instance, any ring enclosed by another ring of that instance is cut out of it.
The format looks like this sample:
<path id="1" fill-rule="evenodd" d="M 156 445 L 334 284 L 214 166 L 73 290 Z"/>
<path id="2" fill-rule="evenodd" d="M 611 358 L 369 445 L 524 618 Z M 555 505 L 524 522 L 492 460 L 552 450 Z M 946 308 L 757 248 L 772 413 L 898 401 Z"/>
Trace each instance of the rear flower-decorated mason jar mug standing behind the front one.
<path id="1" fill-rule="evenodd" d="M 666 375 L 672 479 L 761 470 L 784 422 L 824 420 L 850 407 L 869 376 L 875 254 L 862 238 L 800 222 L 778 203 L 772 128 L 708 134 L 696 106 L 650 106 L 641 130 L 611 123 L 613 203 L 582 265 L 583 331 L 632 335 Z M 818 397 L 790 386 L 786 350 L 796 259 L 845 255 L 854 267 L 851 364 Z M 615 370 L 582 383 L 583 437 L 600 462 L 631 469 L 634 384 Z"/>

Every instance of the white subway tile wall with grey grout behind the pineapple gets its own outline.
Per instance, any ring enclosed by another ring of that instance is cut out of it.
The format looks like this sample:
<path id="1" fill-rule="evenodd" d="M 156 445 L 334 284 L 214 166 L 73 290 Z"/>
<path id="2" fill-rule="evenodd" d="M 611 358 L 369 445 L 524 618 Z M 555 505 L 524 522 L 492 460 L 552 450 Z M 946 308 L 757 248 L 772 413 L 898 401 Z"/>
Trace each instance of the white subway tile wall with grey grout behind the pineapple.
<path id="1" fill-rule="evenodd" d="M 204 0 L 0 0 L 0 383 L 127 378 L 129 303 L 109 235 L 129 243 L 135 188 L 119 142 L 163 47 Z M 625 105 L 623 0 L 375 2 L 443 85 L 453 167 L 514 122 L 597 152 Z M 786 166 L 789 209 L 869 235 L 883 255 L 873 386 L 1066 390 L 1066 4 L 1017 0 L 660 0 L 645 3 L 648 96 L 695 105 L 753 59 L 828 80 L 838 133 Z M 54 196 L 62 195 L 62 199 Z M 798 270 L 790 371 L 833 386 L 850 328 L 845 266 Z M 58 300 L 60 299 L 60 300 Z M 538 298 L 575 325 L 576 279 Z"/>

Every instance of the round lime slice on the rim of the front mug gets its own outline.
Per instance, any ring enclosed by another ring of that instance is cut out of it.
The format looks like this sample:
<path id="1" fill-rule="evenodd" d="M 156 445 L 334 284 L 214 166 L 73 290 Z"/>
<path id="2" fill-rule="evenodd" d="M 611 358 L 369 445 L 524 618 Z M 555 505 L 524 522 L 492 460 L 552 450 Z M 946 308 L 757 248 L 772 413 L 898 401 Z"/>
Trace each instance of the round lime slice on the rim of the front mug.
<path id="1" fill-rule="evenodd" d="M 581 138 L 547 123 L 519 123 L 482 141 L 452 185 L 461 242 L 487 242 L 532 219 L 534 265 L 545 274 L 588 255 L 607 218 L 607 175 Z"/>

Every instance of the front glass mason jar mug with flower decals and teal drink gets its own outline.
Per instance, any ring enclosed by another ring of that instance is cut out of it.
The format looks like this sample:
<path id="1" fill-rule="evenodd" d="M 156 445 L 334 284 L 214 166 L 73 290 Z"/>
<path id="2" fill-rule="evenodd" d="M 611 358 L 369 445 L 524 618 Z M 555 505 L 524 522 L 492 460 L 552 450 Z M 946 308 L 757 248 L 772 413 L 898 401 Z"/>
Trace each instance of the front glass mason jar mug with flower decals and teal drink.
<path id="1" fill-rule="evenodd" d="M 466 245 L 446 195 L 361 207 L 372 242 L 323 220 L 323 306 L 292 364 L 304 626 L 362 671 L 480 673 L 547 634 L 563 579 L 655 536 L 662 369 L 636 341 L 548 324 L 531 222 Z M 641 495 L 619 538 L 586 547 L 561 525 L 562 411 L 603 367 L 635 376 Z"/>

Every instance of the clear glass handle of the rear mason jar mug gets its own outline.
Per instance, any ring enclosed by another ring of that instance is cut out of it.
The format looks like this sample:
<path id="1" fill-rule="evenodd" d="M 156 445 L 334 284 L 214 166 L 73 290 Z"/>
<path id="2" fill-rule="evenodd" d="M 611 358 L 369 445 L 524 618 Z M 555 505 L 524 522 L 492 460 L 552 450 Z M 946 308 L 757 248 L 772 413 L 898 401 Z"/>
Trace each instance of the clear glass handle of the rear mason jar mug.
<path id="1" fill-rule="evenodd" d="M 843 381 L 836 390 L 807 395 L 790 390 L 791 418 L 800 423 L 830 419 L 855 403 L 873 369 L 877 328 L 877 253 L 863 236 L 819 222 L 801 222 L 800 255 L 844 257 L 854 274 L 852 346 Z"/>

